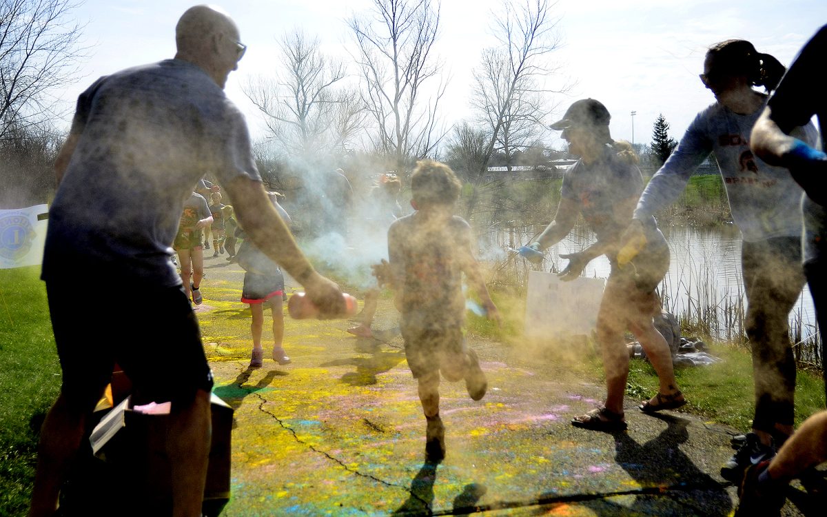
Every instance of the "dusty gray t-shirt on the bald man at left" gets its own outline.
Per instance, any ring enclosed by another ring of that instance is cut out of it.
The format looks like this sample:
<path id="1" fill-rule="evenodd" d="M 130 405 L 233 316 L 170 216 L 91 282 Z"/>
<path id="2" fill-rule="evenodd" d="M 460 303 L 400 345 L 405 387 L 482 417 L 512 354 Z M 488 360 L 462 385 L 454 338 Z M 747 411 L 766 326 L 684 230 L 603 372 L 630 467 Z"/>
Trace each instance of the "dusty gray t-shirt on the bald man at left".
<path id="1" fill-rule="evenodd" d="M 98 79 L 80 94 L 71 132 L 79 141 L 50 208 L 44 280 L 180 285 L 170 245 L 198 180 L 261 181 L 241 112 L 186 61 Z"/>

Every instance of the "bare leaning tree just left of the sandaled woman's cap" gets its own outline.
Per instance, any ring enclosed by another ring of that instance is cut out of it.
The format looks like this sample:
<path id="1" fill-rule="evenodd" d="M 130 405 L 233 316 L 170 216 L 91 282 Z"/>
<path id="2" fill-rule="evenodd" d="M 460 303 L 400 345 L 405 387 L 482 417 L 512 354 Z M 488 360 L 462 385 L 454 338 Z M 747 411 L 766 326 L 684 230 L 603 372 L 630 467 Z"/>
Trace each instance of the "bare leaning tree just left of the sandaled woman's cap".
<path id="1" fill-rule="evenodd" d="M 494 16 L 499 45 L 483 50 L 475 70 L 471 103 L 489 128 L 488 156 L 504 152 L 509 170 L 514 151 L 543 131 L 543 117 L 550 111 L 548 94 L 566 89 L 552 90 L 546 84 L 557 71 L 548 62 L 559 46 L 557 20 L 548 13 L 554 5 L 547 0 L 505 2 L 504 12 Z"/>

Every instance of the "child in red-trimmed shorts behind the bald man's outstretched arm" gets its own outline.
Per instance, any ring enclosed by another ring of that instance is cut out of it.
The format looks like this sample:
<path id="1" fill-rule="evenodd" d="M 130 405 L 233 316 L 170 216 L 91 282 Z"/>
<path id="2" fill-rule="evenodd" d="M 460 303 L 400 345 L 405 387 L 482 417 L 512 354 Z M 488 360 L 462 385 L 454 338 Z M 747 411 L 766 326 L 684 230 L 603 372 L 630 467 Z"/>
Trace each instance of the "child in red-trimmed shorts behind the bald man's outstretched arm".
<path id="1" fill-rule="evenodd" d="M 284 208 L 276 200 L 277 193 L 267 193 L 284 223 L 290 224 L 291 219 Z M 241 243 L 238 250 L 238 263 L 245 270 L 244 287 L 241 291 L 241 301 L 250 304 L 252 320 L 250 332 L 253 337 L 253 351 L 250 367 L 258 368 L 264 364 L 264 347 L 261 346 L 261 334 L 264 329 L 264 306 L 270 304 L 270 313 L 273 317 L 273 361 L 280 365 L 289 364 L 290 358 L 284 352 L 284 275 L 281 268 L 258 248 L 253 246 L 249 239 Z"/>

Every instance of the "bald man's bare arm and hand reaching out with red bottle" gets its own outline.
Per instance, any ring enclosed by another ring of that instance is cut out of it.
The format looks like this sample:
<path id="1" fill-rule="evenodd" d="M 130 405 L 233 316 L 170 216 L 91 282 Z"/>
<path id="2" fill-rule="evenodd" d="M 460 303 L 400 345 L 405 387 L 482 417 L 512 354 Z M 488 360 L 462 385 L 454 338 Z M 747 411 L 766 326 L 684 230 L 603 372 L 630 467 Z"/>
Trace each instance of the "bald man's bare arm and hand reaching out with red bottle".
<path id="1" fill-rule="evenodd" d="M 338 286 L 313 269 L 284 224 L 264 185 L 245 176 L 238 176 L 224 185 L 231 199 L 236 200 L 238 223 L 246 236 L 265 255 L 282 266 L 296 279 L 321 314 L 343 314 L 345 300 Z"/>

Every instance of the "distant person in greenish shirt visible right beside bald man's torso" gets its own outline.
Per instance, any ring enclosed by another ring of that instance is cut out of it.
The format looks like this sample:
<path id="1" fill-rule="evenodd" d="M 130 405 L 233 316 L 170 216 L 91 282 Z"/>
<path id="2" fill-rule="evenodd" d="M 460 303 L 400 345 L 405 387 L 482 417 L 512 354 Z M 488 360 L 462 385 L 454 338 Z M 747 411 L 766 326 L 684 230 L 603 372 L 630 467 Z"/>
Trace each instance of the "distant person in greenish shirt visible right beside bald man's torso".
<path id="1" fill-rule="evenodd" d="M 196 305 L 203 301 L 199 289 L 204 275 L 203 231 L 212 223 L 213 215 L 209 211 L 207 199 L 194 192 L 184 202 L 184 212 L 181 213 L 172 247 L 178 252 L 184 293 Z"/>

